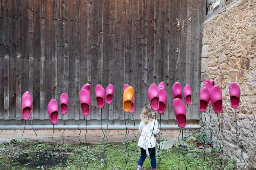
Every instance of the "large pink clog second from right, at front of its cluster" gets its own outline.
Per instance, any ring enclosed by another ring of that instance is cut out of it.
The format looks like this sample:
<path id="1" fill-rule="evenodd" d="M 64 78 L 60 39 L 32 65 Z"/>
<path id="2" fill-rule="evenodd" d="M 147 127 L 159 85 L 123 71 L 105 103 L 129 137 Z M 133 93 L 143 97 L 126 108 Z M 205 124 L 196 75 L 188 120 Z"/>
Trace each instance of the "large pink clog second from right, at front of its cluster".
<path id="1" fill-rule="evenodd" d="M 222 113 L 222 92 L 219 86 L 213 86 L 210 91 L 211 104 L 216 113 Z"/>

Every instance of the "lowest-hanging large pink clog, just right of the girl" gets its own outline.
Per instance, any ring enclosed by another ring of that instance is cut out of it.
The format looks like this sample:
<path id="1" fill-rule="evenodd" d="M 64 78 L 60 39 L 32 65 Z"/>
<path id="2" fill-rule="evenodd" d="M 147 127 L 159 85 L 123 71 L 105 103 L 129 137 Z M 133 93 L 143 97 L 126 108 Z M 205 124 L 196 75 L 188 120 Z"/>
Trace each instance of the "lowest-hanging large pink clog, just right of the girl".
<path id="1" fill-rule="evenodd" d="M 172 102 L 173 111 L 176 116 L 178 126 L 184 128 L 187 125 L 186 108 L 181 99 L 176 98 Z"/>

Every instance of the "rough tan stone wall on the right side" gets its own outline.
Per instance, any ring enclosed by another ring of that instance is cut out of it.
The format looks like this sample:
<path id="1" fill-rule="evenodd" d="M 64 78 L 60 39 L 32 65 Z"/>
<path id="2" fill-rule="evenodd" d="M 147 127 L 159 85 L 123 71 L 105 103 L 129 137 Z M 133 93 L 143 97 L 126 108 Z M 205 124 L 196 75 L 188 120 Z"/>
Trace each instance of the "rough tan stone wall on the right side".
<path id="1" fill-rule="evenodd" d="M 223 113 L 219 115 L 219 140 L 228 156 L 241 162 L 238 128 L 231 108 L 229 85 L 241 88 L 237 108 L 241 128 L 243 157 L 249 168 L 256 167 L 256 0 L 239 0 L 203 24 L 201 87 L 205 79 L 213 79 L 222 89 Z M 213 140 L 219 130 L 217 114 L 211 107 Z M 205 112 L 209 133 L 209 112 Z M 204 117 L 203 117 L 204 120 Z"/>

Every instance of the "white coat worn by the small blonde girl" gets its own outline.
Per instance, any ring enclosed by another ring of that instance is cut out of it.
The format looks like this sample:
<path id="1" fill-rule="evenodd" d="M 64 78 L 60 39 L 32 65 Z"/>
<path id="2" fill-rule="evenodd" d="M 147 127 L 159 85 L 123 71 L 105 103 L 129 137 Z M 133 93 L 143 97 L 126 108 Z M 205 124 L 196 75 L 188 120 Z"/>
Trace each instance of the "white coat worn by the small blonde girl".
<path id="1" fill-rule="evenodd" d="M 155 121 L 155 123 L 154 123 L 154 121 Z M 154 132 L 153 132 L 153 127 L 154 127 Z M 156 140 L 155 140 L 154 135 L 158 135 L 158 133 L 160 132 L 159 129 L 158 129 L 157 120 L 152 120 L 146 125 L 145 125 L 144 122 L 140 122 L 139 132 L 141 133 L 141 136 L 140 136 L 139 141 L 138 141 L 138 146 L 143 147 L 144 137 L 146 139 L 146 143 L 147 143 L 148 148 L 152 148 L 152 147 L 156 146 Z M 153 132 L 153 134 L 152 134 L 152 132 Z M 151 136 L 151 138 L 150 138 L 150 136 Z M 149 142 L 149 139 L 150 139 L 150 142 Z"/>

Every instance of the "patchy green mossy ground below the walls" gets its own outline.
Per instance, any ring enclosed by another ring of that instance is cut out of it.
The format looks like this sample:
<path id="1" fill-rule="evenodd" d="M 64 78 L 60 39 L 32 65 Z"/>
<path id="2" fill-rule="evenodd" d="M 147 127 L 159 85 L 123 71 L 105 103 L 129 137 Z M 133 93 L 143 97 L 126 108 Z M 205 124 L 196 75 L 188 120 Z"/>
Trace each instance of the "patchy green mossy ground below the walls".
<path id="1" fill-rule="evenodd" d="M 55 170 L 62 169 L 61 165 L 61 158 L 62 158 L 62 152 L 61 152 L 61 145 L 55 145 L 56 146 L 56 152 L 54 154 L 55 159 Z M 124 159 L 124 152 L 126 149 L 126 146 L 122 143 L 112 143 L 107 144 L 107 166 L 105 167 L 106 170 L 122 170 L 124 169 L 126 165 L 126 170 L 135 170 L 137 167 L 136 159 L 139 159 L 140 152 L 138 157 L 137 151 L 135 149 L 136 144 L 134 142 L 130 141 L 130 144 L 128 146 L 128 152 L 129 152 L 129 158 L 127 161 Z M 19 153 L 22 150 L 23 144 L 17 143 L 17 144 L 2 144 L 0 145 L 0 169 L 6 170 L 6 169 L 18 169 L 20 166 L 20 158 Z M 136 146 L 137 147 L 137 146 Z M 80 157 L 80 154 L 78 152 L 79 145 L 64 145 L 64 169 L 70 169 L 70 170 L 79 170 L 80 166 L 78 164 L 78 160 Z M 82 166 L 82 169 L 86 169 L 87 166 L 87 159 L 85 156 L 87 145 L 82 145 L 80 148 L 82 157 L 80 159 L 80 165 Z M 160 150 L 159 156 L 161 158 L 159 169 L 161 170 L 177 170 L 177 164 L 180 160 L 178 156 L 178 148 L 179 146 L 175 146 L 172 149 L 168 150 Z M 139 150 L 139 147 L 137 147 Z M 189 145 L 187 147 L 188 153 L 185 157 L 185 163 L 188 170 L 200 170 L 203 169 L 202 167 L 202 161 L 204 159 L 204 156 L 202 154 L 202 150 L 198 149 L 197 147 L 194 147 Z M 54 150 L 53 145 L 51 144 L 43 144 L 41 146 L 41 155 L 40 155 L 40 161 L 41 161 L 41 167 L 42 169 L 48 170 L 53 169 L 54 163 L 52 161 L 51 152 Z M 180 153 L 183 149 L 180 150 Z M 88 170 L 101 170 L 104 166 L 104 161 L 102 159 L 102 154 L 104 152 L 104 148 L 102 145 L 88 145 L 88 151 L 87 156 L 89 160 Z M 128 152 L 126 152 L 126 156 L 128 156 Z M 185 153 L 184 151 L 183 153 Z M 22 164 L 20 166 L 20 170 L 35 170 L 40 169 L 40 165 L 38 162 L 38 149 L 37 146 L 33 143 L 26 143 L 24 150 L 22 151 L 21 159 Z M 179 163 L 180 170 L 184 170 L 185 165 L 183 162 L 182 154 L 180 154 L 181 160 Z M 220 161 L 218 159 L 217 152 L 214 151 L 213 154 L 213 164 L 211 166 L 212 159 L 210 157 L 210 153 L 206 152 L 205 154 L 205 161 L 204 161 L 204 169 L 210 170 L 210 169 L 218 169 L 220 166 Z M 221 155 L 222 160 L 222 170 L 235 170 L 236 169 L 236 162 L 234 159 L 230 159 L 229 157 Z M 157 164 L 159 162 L 159 157 L 156 156 Z M 43 166 L 42 166 L 43 165 Z M 149 170 L 150 169 L 150 161 L 147 157 L 143 164 L 143 170 Z M 158 168 L 157 168 L 158 169 Z"/>

